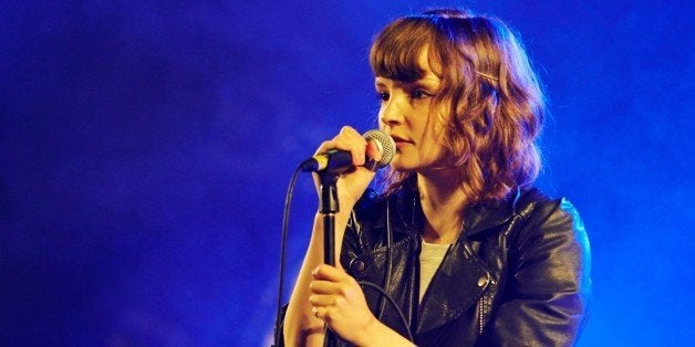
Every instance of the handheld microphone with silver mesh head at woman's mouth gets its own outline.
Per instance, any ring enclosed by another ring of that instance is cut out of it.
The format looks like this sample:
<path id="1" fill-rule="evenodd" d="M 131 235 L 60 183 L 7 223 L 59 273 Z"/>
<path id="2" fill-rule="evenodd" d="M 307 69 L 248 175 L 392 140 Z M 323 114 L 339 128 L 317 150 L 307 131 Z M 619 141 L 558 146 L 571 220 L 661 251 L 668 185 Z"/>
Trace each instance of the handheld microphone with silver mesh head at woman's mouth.
<path id="1" fill-rule="evenodd" d="M 382 154 L 382 158 L 380 160 L 367 158 L 364 167 L 375 171 L 387 166 L 396 153 L 396 144 L 393 141 L 393 138 L 391 138 L 391 136 L 386 133 L 377 129 L 369 130 L 362 136 L 364 136 L 364 139 L 367 141 L 374 141 L 374 144 L 376 144 L 376 148 Z M 304 160 L 301 165 L 302 171 L 304 172 L 328 171 L 334 175 L 340 175 L 351 167 L 352 156 L 350 153 L 336 149 L 315 155 Z"/>

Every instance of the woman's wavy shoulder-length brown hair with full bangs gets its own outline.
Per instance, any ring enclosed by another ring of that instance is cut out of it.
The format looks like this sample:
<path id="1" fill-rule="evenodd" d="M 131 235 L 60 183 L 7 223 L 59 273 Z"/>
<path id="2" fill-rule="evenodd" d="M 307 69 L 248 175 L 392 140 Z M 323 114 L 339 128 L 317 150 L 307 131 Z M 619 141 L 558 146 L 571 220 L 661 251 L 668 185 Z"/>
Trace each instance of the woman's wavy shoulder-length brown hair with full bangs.
<path id="1" fill-rule="evenodd" d="M 431 108 L 445 132 L 443 145 L 468 203 L 499 201 L 530 185 L 540 170 L 536 139 L 544 97 L 526 52 L 498 19 L 459 10 L 433 10 L 395 20 L 375 38 L 370 64 L 376 76 L 414 82 L 427 50 L 442 80 Z M 446 106 L 448 115 L 437 109 Z M 391 171 L 386 192 L 414 182 Z"/>

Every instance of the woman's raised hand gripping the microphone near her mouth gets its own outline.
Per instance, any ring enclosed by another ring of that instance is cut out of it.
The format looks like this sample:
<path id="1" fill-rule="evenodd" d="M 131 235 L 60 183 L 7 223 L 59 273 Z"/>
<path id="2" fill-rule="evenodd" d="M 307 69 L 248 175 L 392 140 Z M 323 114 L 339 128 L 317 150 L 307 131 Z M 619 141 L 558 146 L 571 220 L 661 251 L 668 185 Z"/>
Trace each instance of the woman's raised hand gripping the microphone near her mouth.
<path id="1" fill-rule="evenodd" d="M 336 182 L 340 204 L 341 207 L 345 207 L 344 209 L 341 208 L 341 212 L 350 211 L 360 197 L 362 197 L 362 193 L 364 193 L 375 175 L 373 171 L 363 167 L 365 154 L 370 158 L 378 160 L 381 159 L 381 153 L 373 141 L 366 141 L 360 133 L 349 126 L 344 126 L 335 137 L 321 144 L 317 150 L 317 155 L 331 149 L 350 151 L 352 164 L 355 166 L 353 170 L 341 175 Z M 314 176 L 314 178 L 317 178 L 315 182 L 318 189 L 318 176 Z"/>

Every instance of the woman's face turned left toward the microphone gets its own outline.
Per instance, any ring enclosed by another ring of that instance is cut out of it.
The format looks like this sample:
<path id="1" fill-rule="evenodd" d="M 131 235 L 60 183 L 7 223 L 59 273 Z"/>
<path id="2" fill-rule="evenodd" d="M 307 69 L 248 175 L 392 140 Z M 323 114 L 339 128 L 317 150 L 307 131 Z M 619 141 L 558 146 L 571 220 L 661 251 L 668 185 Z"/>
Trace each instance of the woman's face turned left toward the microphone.
<path id="1" fill-rule="evenodd" d="M 418 64 L 425 71 L 421 80 L 405 83 L 377 76 L 374 82 L 382 101 L 380 127 L 396 143 L 391 167 L 404 172 L 440 168 L 445 153 L 440 141 L 444 128 L 437 120 L 444 109 L 431 108 L 442 81 L 429 67 L 426 49 L 419 55 Z"/>

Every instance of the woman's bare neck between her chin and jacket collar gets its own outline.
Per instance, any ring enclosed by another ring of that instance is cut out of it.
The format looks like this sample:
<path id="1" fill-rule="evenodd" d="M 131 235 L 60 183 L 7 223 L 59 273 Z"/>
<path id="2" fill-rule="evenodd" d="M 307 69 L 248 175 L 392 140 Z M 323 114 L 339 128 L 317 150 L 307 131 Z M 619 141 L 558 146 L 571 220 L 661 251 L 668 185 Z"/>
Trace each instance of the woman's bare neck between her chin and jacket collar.
<path id="1" fill-rule="evenodd" d="M 454 243 L 461 230 L 466 196 L 452 177 L 418 175 L 419 202 L 425 214 L 423 239 Z"/>

